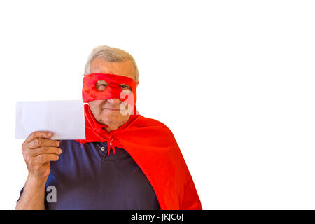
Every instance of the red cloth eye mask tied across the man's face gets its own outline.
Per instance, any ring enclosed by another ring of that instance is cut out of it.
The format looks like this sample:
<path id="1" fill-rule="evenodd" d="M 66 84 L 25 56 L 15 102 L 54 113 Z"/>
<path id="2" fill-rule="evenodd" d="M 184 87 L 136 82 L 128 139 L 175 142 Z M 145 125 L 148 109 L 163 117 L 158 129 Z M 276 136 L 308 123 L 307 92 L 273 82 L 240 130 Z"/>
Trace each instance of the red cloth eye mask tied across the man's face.
<path id="1" fill-rule="evenodd" d="M 104 80 L 108 84 L 105 90 L 99 91 L 96 88 L 97 81 Z M 138 82 L 139 83 L 139 82 Z M 84 102 L 89 102 L 97 99 L 120 99 L 121 101 L 130 104 L 136 110 L 137 92 L 136 83 L 132 78 L 126 76 L 118 76 L 113 74 L 92 73 L 84 76 L 82 96 Z M 128 85 L 129 89 L 123 90 L 120 85 Z"/>

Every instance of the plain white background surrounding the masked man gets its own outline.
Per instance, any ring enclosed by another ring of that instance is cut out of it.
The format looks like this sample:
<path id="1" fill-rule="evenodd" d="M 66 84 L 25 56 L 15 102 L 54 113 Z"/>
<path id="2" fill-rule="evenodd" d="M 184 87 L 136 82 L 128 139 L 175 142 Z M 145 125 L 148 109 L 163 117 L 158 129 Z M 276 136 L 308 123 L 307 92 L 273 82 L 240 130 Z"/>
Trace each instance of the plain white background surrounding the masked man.
<path id="1" fill-rule="evenodd" d="M 314 1 L 1 1 L 0 209 L 27 177 L 15 102 L 81 99 L 97 45 L 130 52 L 204 209 L 315 209 Z"/>

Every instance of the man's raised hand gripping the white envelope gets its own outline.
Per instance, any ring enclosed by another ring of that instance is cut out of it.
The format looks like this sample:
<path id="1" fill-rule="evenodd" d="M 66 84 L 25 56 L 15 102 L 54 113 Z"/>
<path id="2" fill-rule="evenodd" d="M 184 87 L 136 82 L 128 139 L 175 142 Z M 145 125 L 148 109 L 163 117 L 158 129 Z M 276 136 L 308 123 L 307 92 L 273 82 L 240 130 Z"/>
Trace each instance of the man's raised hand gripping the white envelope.
<path id="1" fill-rule="evenodd" d="M 22 144 L 22 153 L 29 170 L 29 177 L 45 181 L 50 174 L 50 161 L 57 161 L 62 153 L 59 141 L 49 139 L 52 132 L 32 132 Z"/>

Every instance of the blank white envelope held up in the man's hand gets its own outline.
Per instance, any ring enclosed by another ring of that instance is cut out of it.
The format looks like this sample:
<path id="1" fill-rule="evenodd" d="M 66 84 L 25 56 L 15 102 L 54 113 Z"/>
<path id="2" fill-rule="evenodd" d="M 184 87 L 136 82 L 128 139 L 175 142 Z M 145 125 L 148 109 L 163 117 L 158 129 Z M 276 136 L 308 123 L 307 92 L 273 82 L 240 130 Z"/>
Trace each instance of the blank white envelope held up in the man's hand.
<path id="1" fill-rule="evenodd" d="M 34 131 L 53 132 L 51 139 L 85 139 L 83 101 L 17 102 L 15 139 Z"/>

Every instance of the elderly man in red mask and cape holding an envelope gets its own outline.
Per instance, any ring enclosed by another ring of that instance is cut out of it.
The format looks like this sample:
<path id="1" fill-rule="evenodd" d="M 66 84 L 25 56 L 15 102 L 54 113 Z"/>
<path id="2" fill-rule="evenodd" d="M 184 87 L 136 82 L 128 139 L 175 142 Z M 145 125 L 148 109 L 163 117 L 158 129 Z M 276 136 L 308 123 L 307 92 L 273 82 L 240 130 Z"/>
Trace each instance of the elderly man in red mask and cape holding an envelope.
<path id="1" fill-rule="evenodd" d="M 31 133 L 16 209 L 202 209 L 172 132 L 138 113 L 138 84 L 132 55 L 92 50 L 83 79 L 86 139 Z"/>

